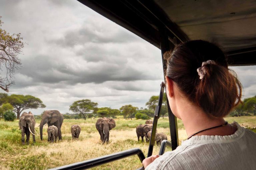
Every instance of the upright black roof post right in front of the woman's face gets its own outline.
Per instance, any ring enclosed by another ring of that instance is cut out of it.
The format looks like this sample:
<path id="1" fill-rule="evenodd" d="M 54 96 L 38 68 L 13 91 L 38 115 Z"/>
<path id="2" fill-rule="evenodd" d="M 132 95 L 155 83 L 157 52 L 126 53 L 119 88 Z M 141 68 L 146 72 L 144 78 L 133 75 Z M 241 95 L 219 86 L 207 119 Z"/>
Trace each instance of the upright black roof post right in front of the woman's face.
<path id="1" fill-rule="evenodd" d="M 163 70 L 164 70 L 164 79 L 165 79 L 165 71 L 167 68 L 166 60 L 164 59 L 164 53 L 168 50 L 174 49 L 174 44 L 170 44 L 168 40 L 168 36 L 166 34 L 166 28 L 164 26 L 159 27 L 160 40 L 161 40 L 161 52 L 162 52 L 162 61 L 163 61 Z M 166 91 L 166 89 L 165 89 Z M 167 98 L 167 97 L 166 97 Z M 167 109 L 168 109 L 168 117 L 169 117 L 169 125 L 170 125 L 170 133 L 171 133 L 171 142 L 172 142 L 172 150 L 178 147 L 178 127 L 177 127 L 177 118 L 173 115 L 169 101 L 167 99 Z"/>

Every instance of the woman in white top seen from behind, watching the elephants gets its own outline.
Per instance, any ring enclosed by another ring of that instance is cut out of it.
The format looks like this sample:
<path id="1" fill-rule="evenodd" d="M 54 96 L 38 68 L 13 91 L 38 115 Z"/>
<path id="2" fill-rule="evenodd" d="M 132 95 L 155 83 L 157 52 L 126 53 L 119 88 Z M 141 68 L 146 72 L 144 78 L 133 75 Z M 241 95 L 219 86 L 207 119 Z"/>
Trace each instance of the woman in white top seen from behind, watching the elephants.
<path id="1" fill-rule="evenodd" d="M 256 169 L 256 133 L 223 119 L 241 102 L 241 84 L 222 50 L 196 40 L 165 57 L 168 101 L 188 139 L 174 151 L 146 158 L 146 170 Z"/>

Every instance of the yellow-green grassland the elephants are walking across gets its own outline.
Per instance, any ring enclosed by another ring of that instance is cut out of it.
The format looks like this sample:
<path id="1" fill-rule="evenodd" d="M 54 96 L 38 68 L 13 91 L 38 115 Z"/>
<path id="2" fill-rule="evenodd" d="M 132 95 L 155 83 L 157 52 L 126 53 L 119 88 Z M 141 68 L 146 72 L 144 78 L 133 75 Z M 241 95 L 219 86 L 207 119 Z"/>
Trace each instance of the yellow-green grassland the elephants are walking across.
<path id="1" fill-rule="evenodd" d="M 256 116 L 253 117 L 228 117 L 231 123 L 238 122 L 240 125 L 256 127 Z M 63 140 L 57 143 L 47 142 L 47 128 L 43 129 L 43 141 L 36 136 L 36 143 L 32 145 L 21 145 L 21 132 L 18 120 L 15 122 L 0 121 L 0 169 L 49 169 L 74 162 L 79 162 L 114 152 L 139 147 L 144 154 L 147 153 L 148 144 L 137 141 L 135 128 L 144 124 L 144 120 L 116 119 L 116 128 L 110 131 L 110 142 L 101 144 L 100 136 L 95 128 L 95 120 L 64 120 L 61 131 Z M 37 120 L 39 125 L 40 120 Z M 78 124 L 82 130 L 79 140 L 72 140 L 70 128 Z M 178 120 L 179 143 L 186 139 L 184 126 Z M 39 132 L 39 128 L 36 128 Z M 158 132 L 165 132 L 170 140 L 168 118 L 160 118 L 158 121 Z M 170 149 L 167 149 L 170 150 Z M 155 146 L 153 154 L 157 154 L 159 147 Z M 137 156 L 132 156 L 94 169 L 136 169 L 141 166 Z"/>

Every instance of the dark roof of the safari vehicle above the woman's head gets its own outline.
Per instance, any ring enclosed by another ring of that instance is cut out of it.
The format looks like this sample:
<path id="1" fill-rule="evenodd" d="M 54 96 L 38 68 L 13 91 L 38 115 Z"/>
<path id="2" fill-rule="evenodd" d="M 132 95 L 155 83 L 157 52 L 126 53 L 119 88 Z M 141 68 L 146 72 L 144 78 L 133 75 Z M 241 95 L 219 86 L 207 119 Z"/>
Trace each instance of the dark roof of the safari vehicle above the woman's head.
<path id="1" fill-rule="evenodd" d="M 78 0 L 161 49 L 161 28 L 170 44 L 206 40 L 219 44 L 229 65 L 256 65 L 255 0 Z"/>

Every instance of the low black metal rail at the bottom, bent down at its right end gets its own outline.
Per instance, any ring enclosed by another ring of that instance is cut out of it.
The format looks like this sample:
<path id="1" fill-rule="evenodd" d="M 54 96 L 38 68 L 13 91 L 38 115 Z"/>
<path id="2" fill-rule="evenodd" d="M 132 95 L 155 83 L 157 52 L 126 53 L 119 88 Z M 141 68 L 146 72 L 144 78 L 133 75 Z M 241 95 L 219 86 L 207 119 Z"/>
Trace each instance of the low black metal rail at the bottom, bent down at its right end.
<path id="1" fill-rule="evenodd" d="M 65 165 L 65 166 L 53 168 L 51 170 L 89 169 L 89 168 L 93 168 L 95 166 L 106 164 L 106 163 L 109 163 L 109 162 L 112 162 L 112 161 L 116 161 L 116 160 L 119 160 L 119 159 L 126 158 L 128 156 L 136 155 L 136 154 L 138 155 L 141 162 L 145 159 L 145 156 L 144 156 L 143 152 L 139 148 L 132 148 L 132 149 L 124 150 L 124 151 L 121 151 L 121 152 L 113 153 L 113 154 L 110 154 L 110 155 L 105 155 L 105 156 L 101 156 L 101 157 L 98 157 L 98 158 L 89 159 L 89 160 L 86 160 L 86 161 L 77 162 L 77 163 L 73 163 L 73 164 L 70 164 L 70 165 Z"/>

